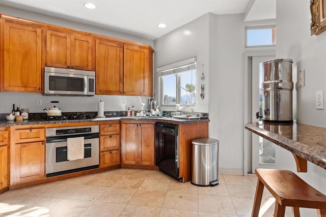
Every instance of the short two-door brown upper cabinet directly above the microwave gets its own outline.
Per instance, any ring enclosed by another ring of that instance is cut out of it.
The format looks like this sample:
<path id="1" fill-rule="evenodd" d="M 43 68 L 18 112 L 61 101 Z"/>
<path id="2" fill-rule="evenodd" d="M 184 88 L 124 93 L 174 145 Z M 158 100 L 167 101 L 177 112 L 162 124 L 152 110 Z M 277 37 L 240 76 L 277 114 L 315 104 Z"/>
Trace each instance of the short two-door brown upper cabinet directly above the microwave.
<path id="1" fill-rule="evenodd" d="M 94 70 L 94 39 L 89 36 L 46 31 L 46 66 Z"/>

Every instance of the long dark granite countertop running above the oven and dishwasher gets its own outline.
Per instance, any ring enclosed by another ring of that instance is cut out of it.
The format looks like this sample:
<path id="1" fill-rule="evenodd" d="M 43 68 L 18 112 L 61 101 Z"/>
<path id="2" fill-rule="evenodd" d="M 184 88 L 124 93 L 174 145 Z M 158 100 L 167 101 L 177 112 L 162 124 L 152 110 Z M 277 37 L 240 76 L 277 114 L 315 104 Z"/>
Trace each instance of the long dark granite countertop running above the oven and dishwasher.
<path id="1" fill-rule="evenodd" d="M 201 119 L 176 119 L 172 117 L 102 117 L 92 119 L 74 119 L 74 120 L 45 120 L 45 119 L 30 119 L 30 120 L 0 120 L 0 127 L 20 126 L 20 125 L 49 125 L 51 123 L 80 123 L 80 122 L 94 122 L 94 121 L 106 121 L 106 120 L 153 120 L 155 122 L 165 122 L 171 124 L 183 124 L 183 123 L 201 123 L 209 122 L 208 118 Z"/>

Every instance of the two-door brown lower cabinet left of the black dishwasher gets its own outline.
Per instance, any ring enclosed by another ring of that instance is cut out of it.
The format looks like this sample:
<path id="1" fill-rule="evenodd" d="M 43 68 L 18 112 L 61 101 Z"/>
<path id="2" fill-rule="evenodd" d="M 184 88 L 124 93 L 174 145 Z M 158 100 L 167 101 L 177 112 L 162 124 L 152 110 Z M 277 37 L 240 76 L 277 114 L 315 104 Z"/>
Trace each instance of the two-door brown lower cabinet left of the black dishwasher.
<path id="1" fill-rule="evenodd" d="M 121 122 L 121 167 L 155 168 L 154 122 Z"/>

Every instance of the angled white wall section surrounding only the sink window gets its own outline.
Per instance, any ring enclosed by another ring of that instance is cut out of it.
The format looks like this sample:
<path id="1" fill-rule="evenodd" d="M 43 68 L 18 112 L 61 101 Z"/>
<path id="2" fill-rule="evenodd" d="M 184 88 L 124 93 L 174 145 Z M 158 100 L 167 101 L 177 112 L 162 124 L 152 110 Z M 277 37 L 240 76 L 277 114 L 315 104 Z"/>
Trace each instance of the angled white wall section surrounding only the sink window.
<path id="1" fill-rule="evenodd" d="M 179 27 L 176 30 L 156 39 L 154 41 L 154 92 L 155 99 L 158 99 L 158 78 L 156 68 L 175 63 L 190 57 L 197 56 L 197 106 L 196 112 L 208 112 L 208 81 L 209 81 L 209 20 L 214 17 L 213 14 L 205 14 Z M 204 64 L 205 79 L 202 81 L 202 65 Z M 200 98 L 201 84 L 205 85 L 205 99 Z M 158 102 L 157 102 L 158 103 Z M 158 103 L 160 105 L 160 103 Z M 174 108 L 165 108 L 165 110 L 175 111 Z M 174 109 L 174 110 L 173 110 Z"/>

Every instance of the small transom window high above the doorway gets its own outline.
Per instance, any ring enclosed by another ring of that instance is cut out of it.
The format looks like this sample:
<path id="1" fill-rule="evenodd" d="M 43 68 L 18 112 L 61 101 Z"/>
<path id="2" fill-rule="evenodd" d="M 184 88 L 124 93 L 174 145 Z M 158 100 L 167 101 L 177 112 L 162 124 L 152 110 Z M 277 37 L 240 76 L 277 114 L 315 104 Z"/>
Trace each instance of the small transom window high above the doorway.
<path id="1" fill-rule="evenodd" d="M 246 27 L 246 47 L 268 47 L 276 45 L 276 27 Z"/>

